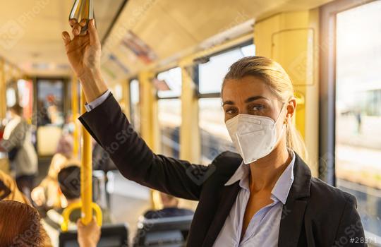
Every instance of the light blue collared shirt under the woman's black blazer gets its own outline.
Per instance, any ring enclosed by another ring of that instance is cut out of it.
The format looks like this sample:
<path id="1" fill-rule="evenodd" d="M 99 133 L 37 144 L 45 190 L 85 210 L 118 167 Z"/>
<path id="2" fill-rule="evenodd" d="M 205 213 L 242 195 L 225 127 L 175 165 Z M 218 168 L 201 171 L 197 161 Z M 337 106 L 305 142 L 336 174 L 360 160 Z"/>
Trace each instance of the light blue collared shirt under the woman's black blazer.
<path id="1" fill-rule="evenodd" d="M 241 164 L 231 179 L 225 183 L 229 186 L 239 181 L 241 187 L 238 192 L 236 202 L 226 217 L 224 227 L 222 227 L 219 235 L 214 242 L 214 247 L 248 247 L 248 246 L 278 246 L 279 226 L 282 217 L 282 208 L 286 203 L 291 185 L 294 181 L 294 163 L 295 153 L 290 164 L 279 176 L 277 183 L 272 189 L 270 198 L 273 203 L 262 207 L 255 213 L 250 220 L 246 232 L 241 241 L 241 231 L 243 224 L 243 216 L 245 215 L 246 205 L 250 197 L 249 175 L 250 167 L 248 164 Z"/>

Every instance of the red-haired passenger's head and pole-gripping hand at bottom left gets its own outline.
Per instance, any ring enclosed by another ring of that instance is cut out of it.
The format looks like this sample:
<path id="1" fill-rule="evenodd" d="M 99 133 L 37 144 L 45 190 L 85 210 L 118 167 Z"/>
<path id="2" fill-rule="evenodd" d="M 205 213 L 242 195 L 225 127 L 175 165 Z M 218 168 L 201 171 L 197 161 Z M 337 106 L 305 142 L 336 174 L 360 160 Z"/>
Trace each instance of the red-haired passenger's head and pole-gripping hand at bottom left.
<path id="1" fill-rule="evenodd" d="M 0 246 L 46 246 L 44 239 L 47 238 L 47 234 L 40 223 L 40 215 L 30 205 L 14 200 L 2 200 L 0 219 Z M 80 247 L 95 247 L 99 238 L 100 227 L 94 219 L 87 226 L 78 221 L 77 240 Z"/>

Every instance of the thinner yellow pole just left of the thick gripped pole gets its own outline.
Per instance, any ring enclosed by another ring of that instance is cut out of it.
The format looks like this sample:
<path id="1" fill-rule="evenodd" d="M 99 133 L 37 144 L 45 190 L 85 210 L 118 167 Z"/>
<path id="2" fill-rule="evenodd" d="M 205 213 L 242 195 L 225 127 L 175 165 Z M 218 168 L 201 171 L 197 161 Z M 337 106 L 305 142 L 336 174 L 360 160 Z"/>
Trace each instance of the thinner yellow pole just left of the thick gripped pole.
<path id="1" fill-rule="evenodd" d="M 71 78 L 71 114 L 73 117 L 74 123 L 74 132 L 73 132 L 73 157 L 78 158 L 79 148 L 80 148 L 80 139 L 79 139 L 79 126 L 77 123 L 78 119 L 78 78 L 73 75 Z"/>

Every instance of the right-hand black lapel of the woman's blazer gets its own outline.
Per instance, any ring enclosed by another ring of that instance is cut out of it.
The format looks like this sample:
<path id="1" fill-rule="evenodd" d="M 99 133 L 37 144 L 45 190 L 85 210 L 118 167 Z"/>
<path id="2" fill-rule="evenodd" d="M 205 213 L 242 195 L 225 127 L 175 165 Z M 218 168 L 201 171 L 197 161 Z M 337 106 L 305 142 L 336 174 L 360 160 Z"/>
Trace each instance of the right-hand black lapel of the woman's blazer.
<path id="1" fill-rule="evenodd" d="M 286 204 L 283 206 L 279 227 L 278 246 L 298 246 L 304 212 L 310 196 L 311 172 L 301 157 L 296 155 L 294 165 L 294 182 L 292 183 Z"/>

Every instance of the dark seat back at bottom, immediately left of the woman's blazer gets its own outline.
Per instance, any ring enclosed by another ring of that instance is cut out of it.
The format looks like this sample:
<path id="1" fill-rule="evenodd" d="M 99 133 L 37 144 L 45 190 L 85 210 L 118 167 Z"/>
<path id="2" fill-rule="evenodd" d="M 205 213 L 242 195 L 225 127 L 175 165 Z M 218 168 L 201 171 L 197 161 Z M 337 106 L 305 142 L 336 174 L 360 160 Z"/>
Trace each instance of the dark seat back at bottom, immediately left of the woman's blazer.
<path id="1" fill-rule="evenodd" d="M 186 245 L 193 215 L 141 219 L 133 247 L 182 247 Z"/>

